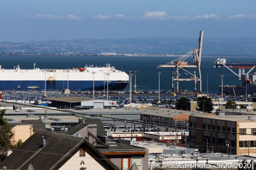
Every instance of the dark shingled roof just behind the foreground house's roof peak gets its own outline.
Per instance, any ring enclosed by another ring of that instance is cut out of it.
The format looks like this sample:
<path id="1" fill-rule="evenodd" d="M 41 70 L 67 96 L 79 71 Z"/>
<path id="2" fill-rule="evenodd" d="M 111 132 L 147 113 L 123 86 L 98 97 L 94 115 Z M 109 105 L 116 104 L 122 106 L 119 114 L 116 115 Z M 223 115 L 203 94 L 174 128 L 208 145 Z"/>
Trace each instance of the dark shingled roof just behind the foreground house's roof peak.
<path id="1" fill-rule="evenodd" d="M 76 125 L 74 128 L 67 131 L 65 134 L 74 135 L 81 129 L 87 127 L 88 125 L 97 125 L 97 135 L 99 136 L 106 136 L 106 130 L 103 127 L 103 124 L 100 119 L 85 119 L 84 123 L 80 123 Z"/>

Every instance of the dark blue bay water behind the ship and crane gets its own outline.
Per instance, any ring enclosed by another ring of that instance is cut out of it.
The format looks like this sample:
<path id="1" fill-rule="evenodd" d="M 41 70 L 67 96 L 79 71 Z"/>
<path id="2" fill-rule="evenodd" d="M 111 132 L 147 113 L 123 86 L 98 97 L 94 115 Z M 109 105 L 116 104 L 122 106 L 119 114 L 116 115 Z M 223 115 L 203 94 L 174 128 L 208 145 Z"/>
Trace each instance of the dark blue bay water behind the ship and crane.
<path id="1" fill-rule="evenodd" d="M 212 68 L 217 57 L 203 57 L 201 63 L 202 73 L 202 90 L 207 89 L 207 74 L 208 74 L 208 92 L 218 93 L 218 86 L 221 85 L 221 78 L 217 75 L 225 75 L 223 78 L 224 85 L 239 85 L 238 78 L 226 68 Z M 137 89 L 152 90 L 158 89 L 158 72 L 160 76 L 160 89 L 169 90 L 171 87 L 171 68 L 157 69 L 159 64 L 165 64 L 173 60 L 174 57 L 122 57 L 122 56 L 0 56 L 0 65 L 2 68 L 13 69 L 13 66 L 18 64 L 22 69 L 32 69 L 33 63 L 36 63 L 37 68 L 72 68 L 83 67 L 85 64 L 94 66 L 106 66 L 111 64 L 118 70 L 123 70 L 128 73 L 129 70 L 137 70 Z M 227 62 L 248 62 L 255 63 L 256 58 L 253 57 L 227 57 Z M 192 58 L 188 60 L 192 63 Z M 188 71 L 190 69 L 187 69 Z M 238 69 L 234 69 L 238 72 Z M 192 72 L 192 70 L 191 70 Z M 197 73 L 197 75 L 199 75 Z M 186 76 L 182 76 L 187 78 Z M 133 80 L 134 83 L 134 80 Z M 129 88 L 129 86 L 128 86 Z M 179 83 L 180 90 L 188 89 L 193 91 L 194 83 L 182 82 Z M 199 82 L 197 89 L 199 89 Z"/>

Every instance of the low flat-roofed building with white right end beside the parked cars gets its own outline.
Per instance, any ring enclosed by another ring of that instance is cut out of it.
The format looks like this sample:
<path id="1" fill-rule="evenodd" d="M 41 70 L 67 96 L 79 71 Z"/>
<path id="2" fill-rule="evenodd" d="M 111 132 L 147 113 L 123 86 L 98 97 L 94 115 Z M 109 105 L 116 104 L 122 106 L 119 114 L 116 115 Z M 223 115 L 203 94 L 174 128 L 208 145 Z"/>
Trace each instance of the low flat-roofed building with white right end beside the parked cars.
<path id="1" fill-rule="evenodd" d="M 51 106 L 59 109 L 113 109 L 117 106 L 116 101 L 91 99 L 83 97 L 55 97 L 45 98 L 45 100 L 51 101 Z"/>

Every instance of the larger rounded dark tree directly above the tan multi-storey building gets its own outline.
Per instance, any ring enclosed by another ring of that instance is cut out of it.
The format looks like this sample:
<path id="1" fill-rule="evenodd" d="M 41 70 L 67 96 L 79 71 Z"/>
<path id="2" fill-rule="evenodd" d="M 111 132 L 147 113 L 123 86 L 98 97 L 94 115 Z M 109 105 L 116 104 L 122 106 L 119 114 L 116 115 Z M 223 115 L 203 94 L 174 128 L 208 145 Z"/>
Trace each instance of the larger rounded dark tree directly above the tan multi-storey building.
<path id="1" fill-rule="evenodd" d="M 198 111 L 211 113 L 213 110 L 213 103 L 209 97 L 202 96 L 197 98 Z"/>

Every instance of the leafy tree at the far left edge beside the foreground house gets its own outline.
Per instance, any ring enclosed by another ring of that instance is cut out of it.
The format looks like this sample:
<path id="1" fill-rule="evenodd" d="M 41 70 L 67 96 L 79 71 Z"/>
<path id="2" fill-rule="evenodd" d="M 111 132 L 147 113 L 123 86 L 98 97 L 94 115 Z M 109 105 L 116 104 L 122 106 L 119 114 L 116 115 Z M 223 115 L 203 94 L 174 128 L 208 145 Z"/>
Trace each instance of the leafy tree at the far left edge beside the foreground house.
<path id="1" fill-rule="evenodd" d="M 5 109 L 0 112 L 0 151 L 6 153 L 8 149 L 14 148 L 16 145 L 11 141 L 14 133 L 7 121 L 3 118 L 5 116 Z"/>

